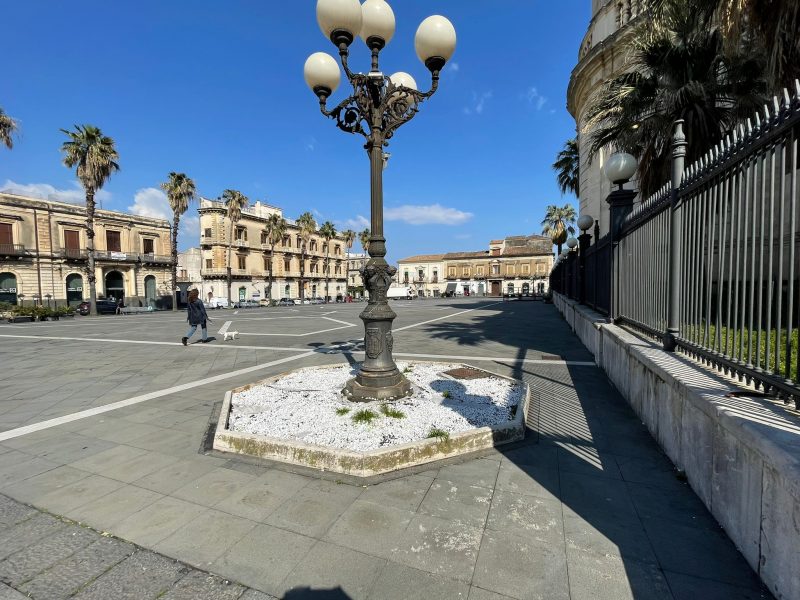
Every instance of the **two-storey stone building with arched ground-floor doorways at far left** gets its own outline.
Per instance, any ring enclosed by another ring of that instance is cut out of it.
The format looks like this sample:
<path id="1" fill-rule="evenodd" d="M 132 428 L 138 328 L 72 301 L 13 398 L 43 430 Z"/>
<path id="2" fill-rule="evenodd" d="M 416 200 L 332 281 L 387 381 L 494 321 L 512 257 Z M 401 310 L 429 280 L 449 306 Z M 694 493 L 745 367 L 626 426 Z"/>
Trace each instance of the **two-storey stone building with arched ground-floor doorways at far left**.
<path id="1" fill-rule="evenodd" d="M 97 210 L 94 229 L 98 298 L 171 306 L 169 223 Z M 0 193 L 0 301 L 77 305 L 87 269 L 85 206 Z"/>

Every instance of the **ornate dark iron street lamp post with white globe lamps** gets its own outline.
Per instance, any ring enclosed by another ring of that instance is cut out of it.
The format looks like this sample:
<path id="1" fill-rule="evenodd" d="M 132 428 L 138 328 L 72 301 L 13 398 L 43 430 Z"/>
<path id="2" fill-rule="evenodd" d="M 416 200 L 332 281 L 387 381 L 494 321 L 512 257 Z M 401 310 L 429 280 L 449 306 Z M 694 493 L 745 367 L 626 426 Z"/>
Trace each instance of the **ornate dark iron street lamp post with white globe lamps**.
<path id="1" fill-rule="evenodd" d="M 353 94 L 328 110 L 328 98 L 339 86 L 341 72 L 336 60 L 324 52 L 312 54 L 306 61 L 306 83 L 319 97 L 322 114 L 335 120 L 342 131 L 364 136 L 370 160 L 370 259 L 361 272 L 369 291 L 369 303 L 361 313 L 366 358 L 343 393 L 354 401 L 401 398 L 410 393 L 411 385 L 392 358 L 392 321 L 397 315 L 389 307 L 386 293 L 396 269 L 385 259 L 383 148 L 395 130 L 410 121 L 419 105 L 436 92 L 439 74 L 455 52 L 456 32 L 450 21 L 440 16 L 428 17 L 419 26 L 415 38 L 417 56 L 432 75 L 431 89 L 423 93 L 417 90 L 411 75 L 399 72 L 386 76 L 379 69 L 380 52 L 395 29 L 394 13 L 384 0 L 366 0 L 363 5 L 358 0 L 318 0 L 317 21 L 339 49 Z M 347 62 L 350 44 L 357 35 L 372 51 L 372 68 L 366 74 L 353 73 Z"/>

